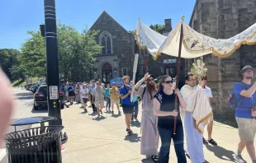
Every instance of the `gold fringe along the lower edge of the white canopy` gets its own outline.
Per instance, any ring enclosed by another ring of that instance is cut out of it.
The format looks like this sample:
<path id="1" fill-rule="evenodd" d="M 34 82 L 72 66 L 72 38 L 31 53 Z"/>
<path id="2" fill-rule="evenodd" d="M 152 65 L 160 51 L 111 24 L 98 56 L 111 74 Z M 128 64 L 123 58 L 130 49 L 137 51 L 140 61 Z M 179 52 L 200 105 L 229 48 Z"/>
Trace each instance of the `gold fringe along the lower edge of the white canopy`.
<path id="1" fill-rule="evenodd" d="M 254 35 L 256 35 L 256 32 L 254 32 Z M 251 40 L 251 39 L 254 37 L 254 35 L 249 36 L 249 37 L 247 38 L 247 40 Z M 139 46 L 140 49 L 147 49 L 147 51 L 149 52 L 149 49 L 148 49 L 147 46 L 141 46 L 141 45 L 140 45 L 140 42 L 139 42 L 139 40 L 138 40 L 138 35 L 137 35 L 136 33 L 135 33 L 135 40 L 136 40 L 136 44 Z M 185 40 L 183 40 L 183 46 L 184 46 L 184 48 L 185 48 L 189 53 L 192 53 L 192 54 L 196 54 L 198 51 L 201 51 L 201 52 L 204 52 L 204 53 L 209 52 L 209 54 L 213 54 L 214 56 L 219 57 L 219 58 L 227 58 L 227 57 L 230 57 L 230 55 L 233 54 L 237 49 L 239 49 L 242 44 L 248 44 L 248 45 L 254 45 L 254 44 L 256 44 L 256 42 L 249 42 L 249 41 L 247 41 L 247 40 L 244 40 L 244 41 L 242 41 L 240 44 L 236 45 L 236 46 L 234 47 L 234 49 L 231 49 L 230 52 L 227 53 L 227 54 L 220 54 L 220 53 L 218 53 L 215 49 L 213 49 L 212 47 L 209 48 L 209 49 L 203 49 L 203 50 L 192 50 L 192 49 L 189 49 L 189 48 L 187 47 L 187 44 L 186 44 Z M 161 52 L 158 51 L 158 53 L 156 54 L 156 56 L 153 57 L 154 60 L 156 60 L 160 55 L 161 55 Z"/>

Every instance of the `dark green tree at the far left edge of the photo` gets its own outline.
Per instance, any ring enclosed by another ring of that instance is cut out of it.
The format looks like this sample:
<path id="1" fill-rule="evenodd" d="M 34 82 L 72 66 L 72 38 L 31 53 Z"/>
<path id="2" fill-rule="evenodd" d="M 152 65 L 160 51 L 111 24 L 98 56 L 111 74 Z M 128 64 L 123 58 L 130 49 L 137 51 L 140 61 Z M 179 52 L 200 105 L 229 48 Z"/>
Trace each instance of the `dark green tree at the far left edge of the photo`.
<path id="1" fill-rule="evenodd" d="M 17 57 L 20 54 L 17 49 L 0 49 L 0 67 L 11 80 L 20 78 L 12 73 L 12 68 L 17 67 Z"/>

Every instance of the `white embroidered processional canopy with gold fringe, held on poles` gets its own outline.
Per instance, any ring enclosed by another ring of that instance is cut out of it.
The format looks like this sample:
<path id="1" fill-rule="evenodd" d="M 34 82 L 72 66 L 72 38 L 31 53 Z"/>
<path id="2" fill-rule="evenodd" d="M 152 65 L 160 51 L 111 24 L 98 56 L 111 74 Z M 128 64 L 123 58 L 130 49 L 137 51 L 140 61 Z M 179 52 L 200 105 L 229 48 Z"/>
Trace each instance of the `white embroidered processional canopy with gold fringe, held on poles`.
<path id="1" fill-rule="evenodd" d="M 256 44 L 256 23 L 230 39 L 214 39 L 198 33 L 184 21 L 179 21 L 168 36 L 143 24 L 140 20 L 136 26 L 135 39 L 141 49 L 147 49 L 154 59 L 161 53 L 178 57 L 180 32 L 183 26 L 183 43 L 181 58 L 197 58 L 213 54 L 220 58 L 229 57 L 242 44 Z"/>

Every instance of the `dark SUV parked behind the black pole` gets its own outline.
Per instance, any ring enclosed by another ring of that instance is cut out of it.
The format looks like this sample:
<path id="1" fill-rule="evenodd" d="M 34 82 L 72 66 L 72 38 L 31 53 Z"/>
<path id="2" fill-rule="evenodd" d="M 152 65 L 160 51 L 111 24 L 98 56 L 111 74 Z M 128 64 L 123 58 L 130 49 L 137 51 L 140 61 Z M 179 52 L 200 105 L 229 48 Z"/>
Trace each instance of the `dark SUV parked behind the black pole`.
<path id="1" fill-rule="evenodd" d="M 41 85 L 37 89 L 35 95 L 34 95 L 34 109 L 40 109 L 43 107 L 47 107 L 47 86 Z M 59 101 L 61 109 L 64 109 L 64 92 L 59 93 Z"/>

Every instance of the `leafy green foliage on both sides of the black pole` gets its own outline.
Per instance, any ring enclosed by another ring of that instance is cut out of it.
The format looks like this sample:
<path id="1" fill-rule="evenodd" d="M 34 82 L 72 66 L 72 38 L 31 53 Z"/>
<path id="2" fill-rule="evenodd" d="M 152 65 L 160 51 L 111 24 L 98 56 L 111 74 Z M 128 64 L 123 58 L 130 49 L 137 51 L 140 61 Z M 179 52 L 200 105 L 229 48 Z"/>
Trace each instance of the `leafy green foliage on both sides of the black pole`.
<path id="1" fill-rule="evenodd" d="M 31 37 L 21 45 L 21 54 L 17 57 L 19 64 L 13 72 L 21 70 L 27 77 L 45 77 L 45 39 L 41 36 L 40 30 L 27 33 Z M 93 68 L 95 54 L 99 54 L 102 49 L 95 41 L 97 31 L 86 29 L 80 33 L 72 26 L 65 26 L 59 22 L 57 33 L 59 72 L 64 74 L 64 81 L 68 78 L 70 80 L 71 72 L 78 73 L 72 74 L 78 76 L 75 80 L 85 80 L 88 78 L 89 70 Z"/>

